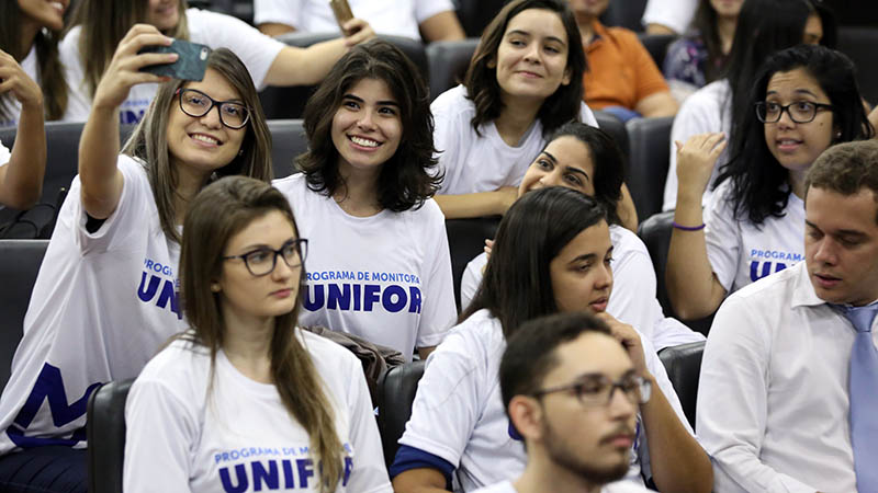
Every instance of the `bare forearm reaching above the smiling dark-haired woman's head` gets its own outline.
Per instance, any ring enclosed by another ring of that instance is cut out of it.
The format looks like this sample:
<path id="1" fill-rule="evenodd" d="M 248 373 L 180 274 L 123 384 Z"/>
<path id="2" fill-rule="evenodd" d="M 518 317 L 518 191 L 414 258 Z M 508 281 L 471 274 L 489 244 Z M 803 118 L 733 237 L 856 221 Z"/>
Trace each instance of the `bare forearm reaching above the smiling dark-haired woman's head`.
<path id="1" fill-rule="evenodd" d="M 361 19 L 348 21 L 345 24 L 345 32 L 351 34 L 317 43 L 307 48 L 285 46 L 269 67 L 266 83 L 269 85 L 314 85 L 329 73 L 329 69 L 348 51 L 348 48 L 375 36 L 372 27 Z"/>

